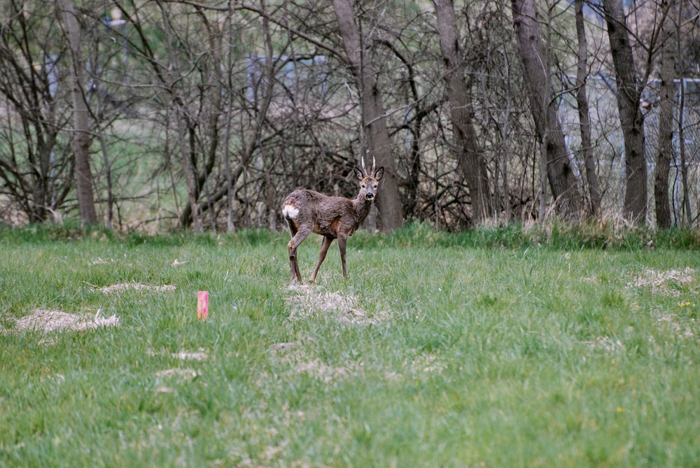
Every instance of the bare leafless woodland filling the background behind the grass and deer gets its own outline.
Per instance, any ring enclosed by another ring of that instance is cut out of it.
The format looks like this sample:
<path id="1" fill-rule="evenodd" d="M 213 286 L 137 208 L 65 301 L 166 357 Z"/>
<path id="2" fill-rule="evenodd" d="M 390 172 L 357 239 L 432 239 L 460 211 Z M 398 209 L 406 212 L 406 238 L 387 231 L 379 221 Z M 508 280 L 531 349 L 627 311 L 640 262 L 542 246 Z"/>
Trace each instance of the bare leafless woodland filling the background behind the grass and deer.
<path id="1" fill-rule="evenodd" d="M 699 3 L 5 0 L 0 223 L 283 227 L 297 187 L 371 229 L 696 225 Z"/>

